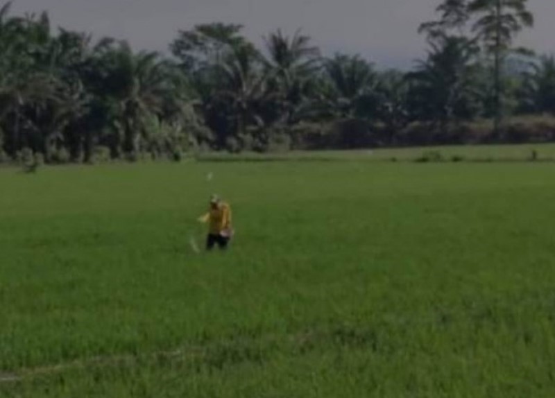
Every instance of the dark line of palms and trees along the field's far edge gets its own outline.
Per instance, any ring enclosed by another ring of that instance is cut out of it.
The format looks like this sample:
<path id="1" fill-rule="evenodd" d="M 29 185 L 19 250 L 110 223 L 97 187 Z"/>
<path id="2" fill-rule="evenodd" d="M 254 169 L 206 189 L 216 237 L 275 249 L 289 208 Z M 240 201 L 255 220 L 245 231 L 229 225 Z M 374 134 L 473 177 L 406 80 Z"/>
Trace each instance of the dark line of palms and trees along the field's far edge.
<path id="1" fill-rule="evenodd" d="M 410 71 L 324 57 L 301 31 L 257 48 L 234 24 L 180 31 L 171 55 L 0 10 L 0 160 L 180 159 L 191 150 L 289 150 L 464 140 L 490 120 L 555 112 L 555 58 L 513 46 L 527 0 L 443 0 Z"/>

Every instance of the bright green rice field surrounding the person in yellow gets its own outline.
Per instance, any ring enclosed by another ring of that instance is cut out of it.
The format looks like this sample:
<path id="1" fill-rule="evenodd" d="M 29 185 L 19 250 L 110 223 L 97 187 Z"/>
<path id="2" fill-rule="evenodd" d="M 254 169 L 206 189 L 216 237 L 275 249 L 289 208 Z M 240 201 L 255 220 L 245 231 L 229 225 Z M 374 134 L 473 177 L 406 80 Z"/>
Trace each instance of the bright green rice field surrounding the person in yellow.
<path id="1" fill-rule="evenodd" d="M 348 159 L 1 170 L 0 396 L 553 397 L 555 165 Z"/>

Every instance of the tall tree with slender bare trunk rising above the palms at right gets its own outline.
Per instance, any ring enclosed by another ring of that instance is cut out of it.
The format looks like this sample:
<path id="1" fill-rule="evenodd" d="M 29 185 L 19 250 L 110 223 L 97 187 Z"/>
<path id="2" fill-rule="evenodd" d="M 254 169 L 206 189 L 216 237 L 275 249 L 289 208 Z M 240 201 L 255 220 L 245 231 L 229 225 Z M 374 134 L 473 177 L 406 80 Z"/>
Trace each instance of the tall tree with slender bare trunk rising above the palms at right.
<path id="1" fill-rule="evenodd" d="M 474 31 L 493 54 L 493 102 L 495 107 L 494 130 L 499 134 L 502 124 L 503 79 L 502 65 L 515 36 L 523 28 L 533 26 L 533 15 L 527 10 L 528 0 L 473 0 L 468 6 L 477 16 Z"/>

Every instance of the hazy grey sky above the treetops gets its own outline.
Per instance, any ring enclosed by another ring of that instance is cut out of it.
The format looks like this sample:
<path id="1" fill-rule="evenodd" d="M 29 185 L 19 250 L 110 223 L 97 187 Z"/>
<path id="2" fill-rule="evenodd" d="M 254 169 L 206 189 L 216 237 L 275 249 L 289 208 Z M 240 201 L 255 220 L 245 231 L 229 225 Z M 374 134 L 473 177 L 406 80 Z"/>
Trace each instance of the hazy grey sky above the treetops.
<path id="1" fill-rule="evenodd" d="M 15 0 L 14 12 L 47 10 L 56 25 L 127 39 L 136 49 L 167 51 L 179 29 L 225 21 L 262 35 L 302 28 L 325 53 L 357 52 L 381 67 L 404 67 L 422 55 L 416 34 L 439 0 Z M 0 0 L 0 3 L 3 3 Z M 520 42 L 555 53 L 555 0 L 530 0 L 536 28 Z"/>

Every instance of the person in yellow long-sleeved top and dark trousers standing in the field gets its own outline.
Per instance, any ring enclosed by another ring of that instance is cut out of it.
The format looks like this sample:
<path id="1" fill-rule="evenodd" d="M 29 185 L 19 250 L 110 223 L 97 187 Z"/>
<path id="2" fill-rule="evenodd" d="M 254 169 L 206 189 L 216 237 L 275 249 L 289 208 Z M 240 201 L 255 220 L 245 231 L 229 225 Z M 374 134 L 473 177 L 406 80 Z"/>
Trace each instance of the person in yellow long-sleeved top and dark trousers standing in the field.
<path id="1" fill-rule="evenodd" d="M 231 227 L 231 207 L 218 196 L 210 197 L 210 210 L 198 218 L 200 223 L 208 223 L 208 236 L 206 237 L 206 250 L 212 250 L 214 245 L 220 249 L 228 247 L 233 235 Z"/>

